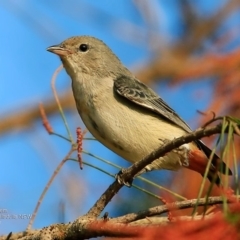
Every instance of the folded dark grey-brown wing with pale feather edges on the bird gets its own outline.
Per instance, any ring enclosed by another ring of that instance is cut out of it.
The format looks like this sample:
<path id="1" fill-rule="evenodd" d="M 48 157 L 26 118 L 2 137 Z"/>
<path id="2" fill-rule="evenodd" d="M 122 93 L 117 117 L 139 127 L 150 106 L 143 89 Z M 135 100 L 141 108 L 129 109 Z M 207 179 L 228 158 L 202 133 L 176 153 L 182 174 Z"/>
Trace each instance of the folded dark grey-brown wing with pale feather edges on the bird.
<path id="1" fill-rule="evenodd" d="M 161 117 L 181 127 L 186 132 L 191 128 L 153 90 L 136 78 L 120 76 L 114 80 L 114 91 L 143 108 L 152 110 Z"/>

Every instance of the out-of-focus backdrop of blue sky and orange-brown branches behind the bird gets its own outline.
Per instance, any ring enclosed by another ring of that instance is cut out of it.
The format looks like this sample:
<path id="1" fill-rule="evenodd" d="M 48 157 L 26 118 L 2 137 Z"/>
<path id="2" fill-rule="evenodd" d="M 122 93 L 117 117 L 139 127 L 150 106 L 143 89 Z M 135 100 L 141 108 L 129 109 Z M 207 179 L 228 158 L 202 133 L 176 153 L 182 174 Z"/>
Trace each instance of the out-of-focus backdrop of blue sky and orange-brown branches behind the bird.
<path id="1" fill-rule="evenodd" d="M 238 0 L 0 0 L 0 16 L 0 216 L 32 214 L 70 149 L 69 142 L 48 135 L 38 107 L 42 102 L 54 132 L 67 136 L 50 86 L 60 60 L 46 48 L 68 37 L 91 35 L 103 40 L 193 129 L 211 119 L 212 112 L 240 117 Z M 76 128 L 85 127 L 64 70 L 56 88 L 76 138 Z M 205 142 L 211 146 L 211 140 Z M 84 141 L 83 149 L 129 166 L 96 141 Z M 111 174 L 119 171 L 86 154 L 82 159 Z M 201 176 L 189 170 L 157 171 L 144 177 L 187 198 L 197 196 L 201 183 Z M 73 221 L 89 210 L 113 180 L 94 168 L 80 170 L 78 163 L 66 162 L 41 202 L 33 228 Z M 167 197 L 163 190 L 139 180 L 134 183 Z M 106 211 L 114 217 L 157 204 L 159 200 L 124 187 Z M 2 216 L 0 234 L 24 230 L 27 224 L 27 219 Z"/>

